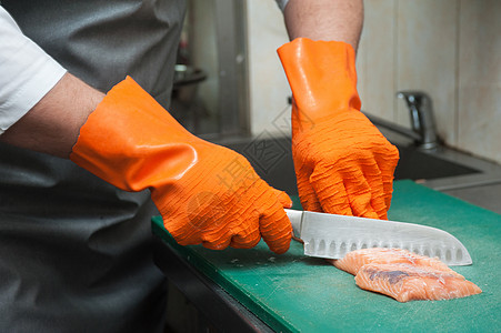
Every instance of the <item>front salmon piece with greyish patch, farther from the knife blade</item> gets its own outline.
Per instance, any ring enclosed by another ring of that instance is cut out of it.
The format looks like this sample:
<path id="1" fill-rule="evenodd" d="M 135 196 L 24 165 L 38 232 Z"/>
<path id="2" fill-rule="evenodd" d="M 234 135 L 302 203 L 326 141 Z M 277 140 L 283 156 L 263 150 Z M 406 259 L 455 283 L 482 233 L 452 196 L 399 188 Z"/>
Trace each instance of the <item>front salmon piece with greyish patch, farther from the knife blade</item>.
<path id="1" fill-rule="evenodd" d="M 479 294 L 474 283 L 430 266 L 370 263 L 354 278 L 357 285 L 389 295 L 399 302 L 412 300 L 449 300 Z"/>

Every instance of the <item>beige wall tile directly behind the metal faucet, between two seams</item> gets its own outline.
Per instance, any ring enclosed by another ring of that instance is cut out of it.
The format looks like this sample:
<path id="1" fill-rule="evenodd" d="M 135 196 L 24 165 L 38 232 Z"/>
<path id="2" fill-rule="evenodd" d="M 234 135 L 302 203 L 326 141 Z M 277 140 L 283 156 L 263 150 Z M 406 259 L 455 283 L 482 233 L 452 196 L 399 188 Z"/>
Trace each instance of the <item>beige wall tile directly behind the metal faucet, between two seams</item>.
<path id="1" fill-rule="evenodd" d="M 439 134 L 455 143 L 458 0 L 399 0 L 397 89 L 423 90 L 433 101 Z M 403 101 L 397 121 L 409 124 Z"/>

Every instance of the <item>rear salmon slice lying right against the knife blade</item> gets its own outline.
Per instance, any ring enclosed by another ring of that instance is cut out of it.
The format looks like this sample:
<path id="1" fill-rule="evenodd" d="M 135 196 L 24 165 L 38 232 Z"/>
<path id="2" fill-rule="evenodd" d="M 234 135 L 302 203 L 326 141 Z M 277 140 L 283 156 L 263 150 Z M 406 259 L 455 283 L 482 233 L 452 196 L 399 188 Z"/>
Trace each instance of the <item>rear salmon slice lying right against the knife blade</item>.
<path id="1" fill-rule="evenodd" d="M 443 272 L 448 272 L 458 278 L 463 278 L 462 275 L 452 271 L 438 258 L 419 255 L 402 249 L 361 249 L 349 252 L 343 259 L 332 261 L 332 264 L 334 266 L 353 275 L 357 275 L 357 272 L 368 263 L 407 263 L 410 265 L 430 266 Z"/>

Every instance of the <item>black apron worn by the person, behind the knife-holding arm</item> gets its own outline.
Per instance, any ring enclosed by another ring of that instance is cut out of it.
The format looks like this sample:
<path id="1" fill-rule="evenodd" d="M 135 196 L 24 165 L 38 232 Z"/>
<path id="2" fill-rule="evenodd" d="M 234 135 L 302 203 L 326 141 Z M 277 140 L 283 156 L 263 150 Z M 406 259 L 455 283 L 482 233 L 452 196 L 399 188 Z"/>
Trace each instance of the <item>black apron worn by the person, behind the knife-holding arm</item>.
<path id="1" fill-rule="evenodd" d="M 21 30 L 108 91 L 127 74 L 167 107 L 183 1 L 11 0 Z M 68 110 L 71 112 L 71 110 Z M 0 144 L 0 332 L 162 332 L 148 191 Z"/>

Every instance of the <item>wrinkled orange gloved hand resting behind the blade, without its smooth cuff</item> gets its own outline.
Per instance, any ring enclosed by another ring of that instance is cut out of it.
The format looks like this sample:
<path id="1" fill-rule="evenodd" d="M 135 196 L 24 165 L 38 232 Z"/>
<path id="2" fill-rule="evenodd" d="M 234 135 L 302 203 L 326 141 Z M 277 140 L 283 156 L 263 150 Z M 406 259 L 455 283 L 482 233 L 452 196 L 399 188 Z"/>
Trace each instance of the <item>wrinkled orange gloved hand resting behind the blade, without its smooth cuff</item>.
<path id="1" fill-rule="evenodd" d="M 292 145 L 304 209 L 387 219 L 397 149 L 355 110 L 310 125 Z"/>

